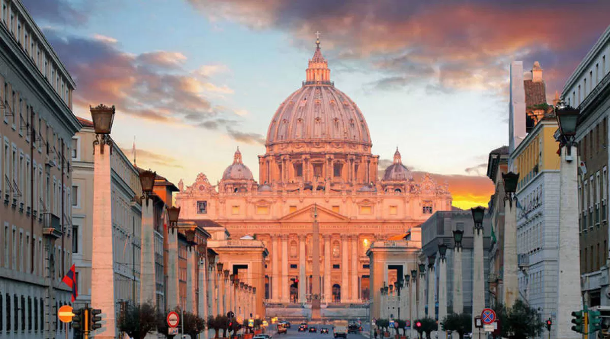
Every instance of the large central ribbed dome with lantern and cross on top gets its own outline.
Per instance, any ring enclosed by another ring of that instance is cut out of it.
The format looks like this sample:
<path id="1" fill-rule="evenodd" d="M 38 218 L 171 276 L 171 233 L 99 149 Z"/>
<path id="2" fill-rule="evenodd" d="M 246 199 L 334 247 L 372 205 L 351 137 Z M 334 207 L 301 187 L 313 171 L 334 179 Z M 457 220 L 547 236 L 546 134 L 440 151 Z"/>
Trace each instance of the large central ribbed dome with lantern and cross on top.
<path id="1" fill-rule="evenodd" d="M 267 142 L 348 142 L 371 145 L 364 115 L 330 80 L 328 62 L 317 42 L 309 60 L 306 81 L 279 105 L 267 132 Z"/>

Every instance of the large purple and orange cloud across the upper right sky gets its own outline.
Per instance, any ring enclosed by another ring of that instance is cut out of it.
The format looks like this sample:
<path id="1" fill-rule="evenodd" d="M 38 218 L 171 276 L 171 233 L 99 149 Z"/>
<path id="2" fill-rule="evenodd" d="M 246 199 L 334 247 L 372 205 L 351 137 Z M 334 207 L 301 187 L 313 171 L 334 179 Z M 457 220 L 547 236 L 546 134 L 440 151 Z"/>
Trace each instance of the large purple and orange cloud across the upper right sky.
<path id="1" fill-rule="evenodd" d="M 561 90 L 610 12 L 610 2 L 595 0 L 188 1 L 213 21 L 281 30 L 303 48 L 320 30 L 326 53 L 384 75 L 373 90 L 418 83 L 429 93 L 493 95 L 506 94 L 512 60 L 539 60 L 547 92 Z"/>

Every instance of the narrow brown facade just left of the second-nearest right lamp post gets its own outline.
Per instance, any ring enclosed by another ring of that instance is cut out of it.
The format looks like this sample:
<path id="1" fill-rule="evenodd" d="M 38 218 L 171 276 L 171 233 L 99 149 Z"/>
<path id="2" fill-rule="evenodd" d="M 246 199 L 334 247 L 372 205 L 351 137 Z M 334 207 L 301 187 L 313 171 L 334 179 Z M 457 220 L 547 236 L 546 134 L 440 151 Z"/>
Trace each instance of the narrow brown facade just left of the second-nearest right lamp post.
<path id="1" fill-rule="evenodd" d="M 508 146 L 489 152 L 487 177 L 493 181 L 494 191 L 489 201 L 489 219 L 492 227 L 492 241 L 489 249 L 489 293 L 490 306 L 504 303 L 504 182 L 502 174 L 508 172 Z"/>

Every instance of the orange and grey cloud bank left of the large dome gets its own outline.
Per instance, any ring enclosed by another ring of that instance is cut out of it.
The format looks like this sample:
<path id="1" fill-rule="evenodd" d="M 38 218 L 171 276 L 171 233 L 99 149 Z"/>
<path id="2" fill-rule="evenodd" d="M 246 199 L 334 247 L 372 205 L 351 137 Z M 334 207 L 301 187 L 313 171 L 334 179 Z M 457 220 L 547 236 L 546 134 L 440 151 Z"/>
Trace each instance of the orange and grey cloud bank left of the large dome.
<path id="1" fill-rule="evenodd" d="M 237 130 L 240 120 L 234 110 L 214 104 L 206 96 L 233 90 L 182 69 L 187 57 L 181 52 L 134 55 L 107 39 L 65 37 L 55 30 L 45 35 L 76 81 L 74 105 L 103 102 L 116 105 L 123 114 L 158 123 L 205 129 L 223 126 L 235 140 L 253 142 L 254 135 Z"/>

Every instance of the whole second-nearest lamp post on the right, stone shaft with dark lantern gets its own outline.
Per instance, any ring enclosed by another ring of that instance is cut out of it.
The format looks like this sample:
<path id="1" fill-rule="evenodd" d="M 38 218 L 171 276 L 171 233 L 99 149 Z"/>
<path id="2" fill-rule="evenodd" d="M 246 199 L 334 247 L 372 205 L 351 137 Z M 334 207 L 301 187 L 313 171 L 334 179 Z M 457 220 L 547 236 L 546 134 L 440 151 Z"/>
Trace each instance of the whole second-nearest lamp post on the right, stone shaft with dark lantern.
<path id="1" fill-rule="evenodd" d="M 519 266 L 517 262 L 517 184 L 519 173 L 502 173 L 504 183 L 504 244 L 503 244 L 503 303 L 511 308 L 519 296 Z M 512 202 L 515 201 L 513 207 Z"/>

